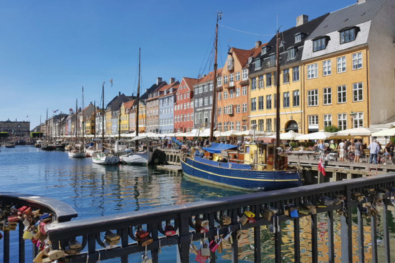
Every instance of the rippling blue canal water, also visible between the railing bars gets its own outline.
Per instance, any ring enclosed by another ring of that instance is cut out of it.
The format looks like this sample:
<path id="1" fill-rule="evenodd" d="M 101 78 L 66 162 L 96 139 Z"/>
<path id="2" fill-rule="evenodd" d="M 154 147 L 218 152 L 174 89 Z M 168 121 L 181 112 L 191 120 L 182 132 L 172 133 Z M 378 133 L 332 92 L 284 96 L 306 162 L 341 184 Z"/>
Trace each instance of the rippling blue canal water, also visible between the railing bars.
<path id="1" fill-rule="evenodd" d="M 105 166 L 92 163 L 90 158 L 69 158 L 67 151 L 43 151 L 32 146 L 1 148 L 0 152 L 1 191 L 42 195 L 61 200 L 78 212 L 78 219 L 101 217 L 130 211 L 140 211 L 159 206 L 183 204 L 223 196 L 234 196 L 246 192 L 191 181 L 181 174 L 156 167 L 130 165 Z M 341 260 L 340 218 L 335 217 L 336 262 Z M 394 208 L 390 215 L 392 251 L 395 251 Z M 320 262 L 328 261 L 327 218 L 318 215 L 318 245 Z M 365 261 L 371 262 L 370 220 L 365 222 Z M 384 261 L 383 225 L 377 225 L 379 262 Z M 353 211 L 354 262 L 358 261 L 356 211 Z M 300 247 L 303 262 L 311 262 L 311 224 L 308 217 L 300 221 Z M 282 262 L 293 262 L 293 223 L 281 223 Z M 17 231 L 11 231 L 11 262 L 17 262 Z M 253 232 L 239 243 L 239 262 L 253 262 Z M 2 247 L 3 240 L 0 240 Z M 32 261 L 32 246 L 26 241 L 26 262 Z M 275 262 L 274 236 L 269 228 L 261 228 L 262 261 Z M 198 242 L 196 242 L 198 245 Z M 86 248 L 85 248 L 86 250 Z M 221 254 L 216 253 L 217 262 L 230 262 L 231 247 L 224 245 Z M 395 253 L 392 260 L 395 261 Z M 191 262 L 194 262 L 191 254 Z M 0 261 L 2 249 L 0 249 Z M 176 247 L 161 249 L 160 262 L 176 262 Z M 119 262 L 119 259 L 107 262 Z M 129 262 L 142 262 L 141 256 L 129 255 Z"/>

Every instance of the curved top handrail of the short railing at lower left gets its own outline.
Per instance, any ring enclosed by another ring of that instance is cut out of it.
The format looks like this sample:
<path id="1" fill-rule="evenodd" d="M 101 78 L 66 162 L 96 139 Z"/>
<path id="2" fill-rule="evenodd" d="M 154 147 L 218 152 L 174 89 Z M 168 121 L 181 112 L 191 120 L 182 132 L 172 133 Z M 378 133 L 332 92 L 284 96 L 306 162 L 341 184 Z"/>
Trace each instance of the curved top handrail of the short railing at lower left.
<path id="1" fill-rule="evenodd" d="M 0 201 L 33 206 L 51 211 L 51 213 L 56 216 L 58 222 L 70 221 L 72 218 L 76 218 L 78 216 L 76 210 L 74 210 L 70 205 L 50 197 L 1 191 Z"/>

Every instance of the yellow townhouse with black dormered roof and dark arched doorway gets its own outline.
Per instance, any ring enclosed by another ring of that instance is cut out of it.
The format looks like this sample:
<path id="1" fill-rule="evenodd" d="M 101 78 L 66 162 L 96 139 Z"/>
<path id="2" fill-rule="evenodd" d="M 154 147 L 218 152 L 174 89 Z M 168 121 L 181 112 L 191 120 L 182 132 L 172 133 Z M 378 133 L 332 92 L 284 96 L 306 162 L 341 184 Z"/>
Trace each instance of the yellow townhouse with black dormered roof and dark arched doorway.
<path id="1" fill-rule="evenodd" d="M 273 37 L 255 57 L 248 59 L 249 119 L 259 131 L 276 131 L 276 107 L 280 109 L 280 132 L 303 132 L 303 65 L 304 44 L 328 14 L 309 21 L 296 18 L 296 26 L 280 33 L 278 41 L 280 72 L 276 72 L 277 37 Z M 279 74 L 280 96 L 276 85 Z"/>

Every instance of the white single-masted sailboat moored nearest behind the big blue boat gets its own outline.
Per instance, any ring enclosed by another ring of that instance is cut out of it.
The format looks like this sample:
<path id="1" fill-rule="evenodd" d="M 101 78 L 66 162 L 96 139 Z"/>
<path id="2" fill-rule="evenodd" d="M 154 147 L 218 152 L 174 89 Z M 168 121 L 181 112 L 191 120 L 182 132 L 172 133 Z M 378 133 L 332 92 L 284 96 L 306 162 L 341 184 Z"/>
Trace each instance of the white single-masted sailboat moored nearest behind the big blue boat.
<path id="1" fill-rule="evenodd" d="M 152 161 L 153 152 L 150 148 L 144 151 L 139 151 L 139 105 L 140 105 L 140 55 L 141 49 L 139 48 L 139 81 L 137 84 L 137 103 L 136 103 L 136 137 L 133 139 L 135 142 L 135 149 L 130 150 L 126 155 L 121 155 L 119 158 L 122 162 L 127 164 L 147 165 Z"/>

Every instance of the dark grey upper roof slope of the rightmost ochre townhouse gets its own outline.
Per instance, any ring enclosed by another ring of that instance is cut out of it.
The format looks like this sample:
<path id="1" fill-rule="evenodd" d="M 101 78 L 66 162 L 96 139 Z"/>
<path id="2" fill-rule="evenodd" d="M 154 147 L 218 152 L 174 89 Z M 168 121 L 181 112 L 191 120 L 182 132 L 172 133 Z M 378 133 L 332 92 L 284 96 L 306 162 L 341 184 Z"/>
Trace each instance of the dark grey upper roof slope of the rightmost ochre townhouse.
<path id="1" fill-rule="evenodd" d="M 331 12 L 306 39 L 324 36 L 372 20 L 385 2 L 386 0 L 366 0 Z"/>

